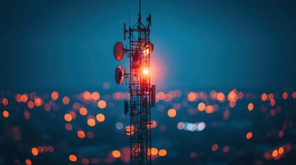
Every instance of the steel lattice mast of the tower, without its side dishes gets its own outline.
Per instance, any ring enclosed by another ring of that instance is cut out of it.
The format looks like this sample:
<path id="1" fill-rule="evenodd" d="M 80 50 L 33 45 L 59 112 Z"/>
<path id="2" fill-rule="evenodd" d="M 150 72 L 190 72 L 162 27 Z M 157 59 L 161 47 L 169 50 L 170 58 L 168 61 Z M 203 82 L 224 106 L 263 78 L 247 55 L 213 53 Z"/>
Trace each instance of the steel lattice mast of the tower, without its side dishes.
<path id="1" fill-rule="evenodd" d="M 128 30 L 130 39 L 130 164 L 151 164 L 150 27 L 138 22 Z"/>

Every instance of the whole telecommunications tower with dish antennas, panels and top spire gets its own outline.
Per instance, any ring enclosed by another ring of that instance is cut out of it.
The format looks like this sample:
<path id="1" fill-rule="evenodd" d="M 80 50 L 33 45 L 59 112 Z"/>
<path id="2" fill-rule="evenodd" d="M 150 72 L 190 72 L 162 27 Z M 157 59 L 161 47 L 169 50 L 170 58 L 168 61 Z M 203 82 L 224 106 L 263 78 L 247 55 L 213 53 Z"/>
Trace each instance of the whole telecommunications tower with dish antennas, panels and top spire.
<path id="1" fill-rule="evenodd" d="M 130 126 L 124 135 L 130 135 L 130 164 L 151 164 L 151 107 L 155 107 L 155 85 L 150 84 L 150 54 L 154 45 L 150 42 L 151 14 L 146 18 L 146 25 L 141 22 L 141 0 L 139 1 L 138 22 L 126 30 L 124 23 L 124 41 L 130 41 L 124 48 L 121 42 L 114 46 L 117 61 L 130 58 L 130 73 L 126 69 L 115 69 L 116 83 L 121 85 L 126 78 L 130 89 L 130 100 L 124 101 L 124 113 L 130 113 Z M 128 34 L 128 35 L 127 35 Z"/>

